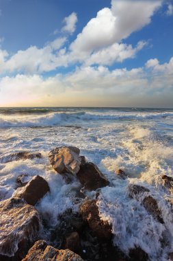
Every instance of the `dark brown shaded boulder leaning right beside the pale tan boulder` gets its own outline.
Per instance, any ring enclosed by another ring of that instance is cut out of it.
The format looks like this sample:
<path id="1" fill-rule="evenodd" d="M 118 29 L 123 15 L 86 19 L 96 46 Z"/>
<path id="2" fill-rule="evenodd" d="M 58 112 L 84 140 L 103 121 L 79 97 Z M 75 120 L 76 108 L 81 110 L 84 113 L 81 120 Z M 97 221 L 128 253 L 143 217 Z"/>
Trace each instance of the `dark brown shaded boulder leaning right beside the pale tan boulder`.
<path id="1" fill-rule="evenodd" d="M 86 190 L 96 190 L 109 185 L 109 181 L 92 162 L 81 165 L 77 178 Z"/>

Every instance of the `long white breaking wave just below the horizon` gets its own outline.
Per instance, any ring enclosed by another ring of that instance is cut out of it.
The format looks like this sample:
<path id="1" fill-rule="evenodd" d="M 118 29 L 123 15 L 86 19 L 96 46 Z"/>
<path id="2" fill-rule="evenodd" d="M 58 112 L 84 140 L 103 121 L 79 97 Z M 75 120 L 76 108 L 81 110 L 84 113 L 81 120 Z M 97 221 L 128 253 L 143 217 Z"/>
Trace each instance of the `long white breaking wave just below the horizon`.
<path id="1" fill-rule="evenodd" d="M 0 114 L 0 128 L 12 127 L 49 127 L 49 126 L 75 126 L 87 122 L 116 121 L 116 120 L 152 120 L 155 118 L 172 117 L 173 113 L 86 113 L 84 111 L 75 113 L 51 112 L 43 115 L 2 115 Z"/>

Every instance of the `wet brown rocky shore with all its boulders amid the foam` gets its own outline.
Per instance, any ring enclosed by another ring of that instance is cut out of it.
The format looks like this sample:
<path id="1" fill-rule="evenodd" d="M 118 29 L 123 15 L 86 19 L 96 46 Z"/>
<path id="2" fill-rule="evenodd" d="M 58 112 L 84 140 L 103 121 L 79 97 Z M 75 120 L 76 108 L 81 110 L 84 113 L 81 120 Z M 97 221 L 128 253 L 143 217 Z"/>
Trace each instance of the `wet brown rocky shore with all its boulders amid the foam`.
<path id="1" fill-rule="evenodd" d="M 41 157 L 40 153 L 18 152 L 1 158 L 1 162 Z M 71 183 L 74 177 L 81 183 L 77 192 L 83 191 L 79 210 L 74 213 L 72 209 L 66 209 L 66 212 L 58 216 L 60 223 L 51 229 L 46 242 L 43 235 L 49 225 L 36 209 L 36 205 L 50 193 L 49 183 L 40 176 L 18 175 L 12 197 L 5 200 L 0 198 L 0 260 L 149 260 L 148 253 L 137 244 L 129 249 L 129 253 L 123 253 L 113 244 L 115 231 L 113 232 L 111 223 L 100 215 L 98 208 L 101 193 L 99 189 L 111 184 L 94 163 L 87 162 L 80 155 L 79 148 L 55 148 L 49 152 L 49 161 L 55 174 L 62 175 L 66 183 Z M 127 179 L 123 170 L 116 170 L 116 175 L 120 180 Z M 161 180 L 164 189 L 172 194 L 173 179 L 163 175 Z M 93 192 L 92 197 L 86 196 L 85 191 Z M 148 188 L 130 184 L 128 193 L 131 200 L 138 201 L 158 223 L 164 224 L 163 213 Z M 172 206 L 173 202 L 170 201 L 169 204 Z M 166 236 L 160 240 L 162 247 L 168 247 Z M 172 256 L 170 253 L 168 259 L 173 260 Z"/>

